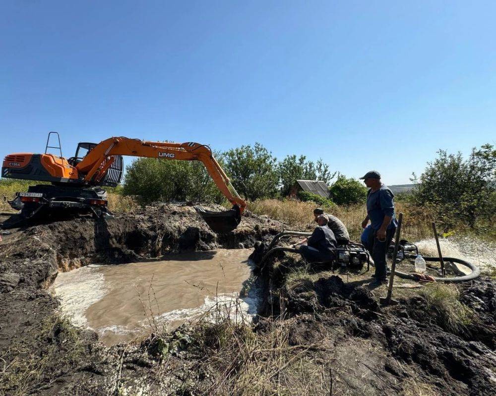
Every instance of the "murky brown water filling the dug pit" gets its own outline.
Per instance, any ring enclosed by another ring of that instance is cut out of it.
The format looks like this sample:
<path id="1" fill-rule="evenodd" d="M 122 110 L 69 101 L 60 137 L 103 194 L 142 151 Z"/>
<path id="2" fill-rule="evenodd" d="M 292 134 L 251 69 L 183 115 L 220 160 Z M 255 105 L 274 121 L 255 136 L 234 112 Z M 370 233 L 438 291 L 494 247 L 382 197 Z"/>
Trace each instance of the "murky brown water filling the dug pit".
<path id="1" fill-rule="evenodd" d="M 73 323 L 95 330 L 107 345 L 200 315 L 249 320 L 258 300 L 255 288 L 244 291 L 250 253 L 219 249 L 162 261 L 91 265 L 59 274 L 54 289 Z"/>

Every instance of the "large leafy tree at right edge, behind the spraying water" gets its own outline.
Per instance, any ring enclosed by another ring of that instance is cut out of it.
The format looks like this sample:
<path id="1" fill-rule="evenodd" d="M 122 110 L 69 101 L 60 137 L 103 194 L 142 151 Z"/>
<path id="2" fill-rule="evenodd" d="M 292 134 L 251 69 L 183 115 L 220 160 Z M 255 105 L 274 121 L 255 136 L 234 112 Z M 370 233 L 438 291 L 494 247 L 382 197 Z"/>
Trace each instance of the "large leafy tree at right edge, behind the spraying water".
<path id="1" fill-rule="evenodd" d="M 412 200 L 434 209 L 445 226 L 461 220 L 474 227 L 478 218 L 494 217 L 496 149 L 491 144 L 474 148 L 467 160 L 461 153 L 439 150 L 420 177 L 413 174 L 412 181 L 417 183 Z"/>

